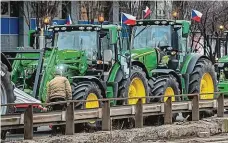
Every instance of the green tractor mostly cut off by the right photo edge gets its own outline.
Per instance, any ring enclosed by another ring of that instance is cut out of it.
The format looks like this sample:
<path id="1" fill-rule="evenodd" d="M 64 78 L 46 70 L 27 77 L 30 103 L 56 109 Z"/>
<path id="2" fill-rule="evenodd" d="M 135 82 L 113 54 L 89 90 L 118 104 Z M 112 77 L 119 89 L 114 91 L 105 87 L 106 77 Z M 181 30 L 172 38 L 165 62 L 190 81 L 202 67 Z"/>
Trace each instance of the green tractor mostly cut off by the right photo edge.
<path id="1" fill-rule="evenodd" d="M 218 74 L 218 89 L 220 92 L 226 92 L 225 97 L 228 96 L 228 56 L 223 56 L 217 63 Z"/>

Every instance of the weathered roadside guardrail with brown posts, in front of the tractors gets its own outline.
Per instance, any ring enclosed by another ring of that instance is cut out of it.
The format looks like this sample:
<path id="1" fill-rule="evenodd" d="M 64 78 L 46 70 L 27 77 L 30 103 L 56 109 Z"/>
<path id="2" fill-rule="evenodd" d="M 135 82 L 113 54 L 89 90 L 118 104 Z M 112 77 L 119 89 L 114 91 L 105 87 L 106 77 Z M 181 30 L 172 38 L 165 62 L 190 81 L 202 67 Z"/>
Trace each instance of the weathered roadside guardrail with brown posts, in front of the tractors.
<path id="1" fill-rule="evenodd" d="M 224 93 L 209 93 L 217 95 L 215 99 L 200 100 L 200 94 L 185 94 L 175 95 L 175 97 L 188 96 L 191 98 L 189 101 L 172 102 L 171 96 L 152 96 L 144 97 L 151 98 L 164 98 L 167 97 L 165 102 L 160 103 L 142 103 L 142 97 L 135 98 L 107 98 L 91 101 L 102 101 L 101 108 L 76 110 L 74 104 L 78 102 L 88 102 L 86 100 L 71 100 L 52 102 L 40 105 L 55 105 L 67 104 L 66 111 L 52 111 L 44 113 L 33 113 L 33 105 L 39 103 L 27 103 L 28 108 L 22 114 L 9 114 L 1 116 L 2 130 L 24 128 L 24 139 L 33 139 L 33 127 L 42 125 L 66 125 L 66 135 L 74 134 L 74 124 L 83 123 L 91 120 L 102 121 L 102 130 L 111 130 L 111 119 L 134 118 L 135 127 L 143 127 L 143 117 L 150 115 L 164 115 L 164 124 L 172 124 L 172 114 L 178 112 L 192 112 L 192 121 L 199 120 L 199 112 L 203 110 L 217 110 L 217 117 L 224 116 L 224 109 L 228 108 L 228 99 L 224 99 Z M 138 99 L 135 105 L 123 105 L 110 107 L 111 100 L 128 100 Z M 24 104 L 24 103 L 23 103 Z M 14 106 L 20 104 L 4 104 L 1 106 Z"/>

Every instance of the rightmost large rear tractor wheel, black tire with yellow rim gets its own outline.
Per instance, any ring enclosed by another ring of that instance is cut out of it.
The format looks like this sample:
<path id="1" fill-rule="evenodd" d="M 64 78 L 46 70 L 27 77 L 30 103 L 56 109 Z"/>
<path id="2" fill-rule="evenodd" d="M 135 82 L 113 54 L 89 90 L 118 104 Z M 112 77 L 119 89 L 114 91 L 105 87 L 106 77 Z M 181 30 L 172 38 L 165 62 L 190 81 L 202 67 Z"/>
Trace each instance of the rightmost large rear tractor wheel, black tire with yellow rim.
<path id="1" fill-rule="evenodd" d="M 217 92 L 217 82 L 216 82 L 217 79 L 216 79 L 215 68 L 212 62 L 206 58 L 201 58 L 197 61 L 193 69 L 193 72 L 190 74 L 189 79 L 190 79 L 189 90 L 188 90 L 189 94 Z M 202 84 L 201 82 L 204 82 L 204 83 Z M 214 94 L 200 95 L 200 99 L 213 99 L 213 98 L 214 98 Z M 200 118 L 211 117 L 214 114 L 215 114 L 215 111 L 211 111 L 211 110 L 201 111 Z M 187 115 L 188 113 L 183 114 L 184 117 L 186 117 Z M 188 118 L 188 120 L 191 120 L 191 115 Z"/>

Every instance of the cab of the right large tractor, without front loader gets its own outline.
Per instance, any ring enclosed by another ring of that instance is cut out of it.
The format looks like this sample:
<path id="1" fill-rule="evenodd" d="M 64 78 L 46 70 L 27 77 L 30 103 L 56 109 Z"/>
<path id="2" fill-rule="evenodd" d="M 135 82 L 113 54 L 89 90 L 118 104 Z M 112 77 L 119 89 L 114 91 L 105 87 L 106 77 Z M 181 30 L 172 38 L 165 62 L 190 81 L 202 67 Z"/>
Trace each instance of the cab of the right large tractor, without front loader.
<path id="1" fill-rule="evenodd" d="M 188 37 L 189 26 L 189 22 L 180 20 L 139 20 L 132 29 L 131 49 L 153 48 L 160 68 L 176 70 L 181 60 L 178 53 L 187 51 L 184 39 Z"/>

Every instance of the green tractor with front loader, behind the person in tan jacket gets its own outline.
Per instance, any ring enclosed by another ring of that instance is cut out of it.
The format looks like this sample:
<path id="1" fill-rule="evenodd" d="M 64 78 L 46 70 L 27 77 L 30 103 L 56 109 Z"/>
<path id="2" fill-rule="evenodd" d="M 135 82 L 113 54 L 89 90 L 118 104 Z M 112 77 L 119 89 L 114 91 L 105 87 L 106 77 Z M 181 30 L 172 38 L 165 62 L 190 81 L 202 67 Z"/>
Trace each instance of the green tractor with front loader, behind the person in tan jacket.
<path id="1" fill-rule="evenodd" d="M 76 109 L 98 108 L 102 103 L 90 100 L 119 97 L 129 74 L 135 77 L 132 88 L 137 82 L 146 87 L 143 74 L 129 68 L 130 53 L 122 44 L 120 29 L 117 25 L 59 25 L 49 27 L 51 34 L 48 38 L 42 32 L 39 38 L 34 38 L 36 31 L 32 31 L 30 46 L 37 48 L 39 44 L 39 49 L 14 51 L 17 54 L 11 58 L 14 60 L 12 81 L 17 88 L 45 102 L 46 85 L 58 68 L 70 80 L 73 99 L 88 101 L 75 104 Z M 145 88 L 136 94 L 140 95 L 140 92 L 148 93 Z M 124 103 L 134 104 L 136 101 Z M 111 101 L 111 104 L 117 102 Z"/>

